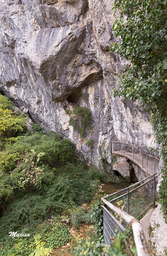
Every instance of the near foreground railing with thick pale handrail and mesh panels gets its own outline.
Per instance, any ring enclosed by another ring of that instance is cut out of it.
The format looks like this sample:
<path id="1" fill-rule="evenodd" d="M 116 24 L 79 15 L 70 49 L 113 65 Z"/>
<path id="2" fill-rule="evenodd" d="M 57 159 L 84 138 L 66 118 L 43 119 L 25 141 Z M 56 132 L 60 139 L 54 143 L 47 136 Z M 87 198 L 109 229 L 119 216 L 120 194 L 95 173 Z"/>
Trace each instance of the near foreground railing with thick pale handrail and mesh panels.
<path id="1" fill-rule="evenodd" d="M 158 198 L 156 178 L 157 173 L 128 188 L 102 197 L 102 201 L 108 207 L 107 210 L 103 206 L 103 234 L 106 245 L 111 245 L 113 242 L 111 237 L 116 237 L 118 231 L 121 233 L 128 225 L 132 225 L 137 255 L 149 255 L 144 233 L 138 220 L 151 205 L 155 205 Z"/>

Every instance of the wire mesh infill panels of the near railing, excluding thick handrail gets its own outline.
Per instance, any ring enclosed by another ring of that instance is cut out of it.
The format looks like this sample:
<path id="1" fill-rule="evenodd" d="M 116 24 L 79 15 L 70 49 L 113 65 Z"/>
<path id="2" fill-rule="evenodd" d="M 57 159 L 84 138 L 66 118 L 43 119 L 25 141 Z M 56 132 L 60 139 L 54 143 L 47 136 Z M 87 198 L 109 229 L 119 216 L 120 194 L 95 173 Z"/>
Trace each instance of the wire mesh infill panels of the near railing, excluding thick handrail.
<path id="1" fill-rule="evenodd" d="M 132 217 L 140 220 L 149 207 L 155 205 L 158 198 L 156 185 L 157 173 L 104 198 L 124 212 L 129 213 Z M 112 239 L 109 239 L 109 236 L 110 238 L 115 237 L 118 231 L 121 232 L 128 225 L 119 214 L 112 210 L 103 210 L 103 214 L 104 238 L 106 237 L 105 243 L 107 242 L 108 245 L 108 241 L 110 241 L 110 244 L 112 243 Z M 107 230 L 110 230 L 109 234 L 107 234 Z"/>

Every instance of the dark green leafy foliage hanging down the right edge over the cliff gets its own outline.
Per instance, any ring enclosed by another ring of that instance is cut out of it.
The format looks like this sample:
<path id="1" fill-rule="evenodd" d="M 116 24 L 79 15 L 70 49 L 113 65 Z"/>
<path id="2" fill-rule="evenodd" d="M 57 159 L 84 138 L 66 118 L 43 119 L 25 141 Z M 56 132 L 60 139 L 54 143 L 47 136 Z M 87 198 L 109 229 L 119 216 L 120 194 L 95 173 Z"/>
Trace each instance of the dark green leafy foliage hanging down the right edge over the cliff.
<path id="1" fill-rule="evenodd" d="M 167 221 L 167 1 L 115 0 L 120 11 L 113 29 L 121 42 L 113 43 L 111 51 L 119 52 L 130 65 L 121 75 L 114 95 L 124 95 L 151 111 L 156 141 L 163 157 L 160 202 Z"/>

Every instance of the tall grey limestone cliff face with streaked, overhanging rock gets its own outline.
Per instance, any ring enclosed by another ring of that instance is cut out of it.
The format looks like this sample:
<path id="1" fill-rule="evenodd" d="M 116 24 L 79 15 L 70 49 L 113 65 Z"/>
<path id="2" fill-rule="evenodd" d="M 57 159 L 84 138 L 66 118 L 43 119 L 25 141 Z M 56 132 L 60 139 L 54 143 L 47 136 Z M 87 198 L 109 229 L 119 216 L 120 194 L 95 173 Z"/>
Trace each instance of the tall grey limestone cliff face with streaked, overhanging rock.
<path id="1" fill-rule="evenodd" d="M 110 53 L 115 41 L 111 0 L 0 0 L 0 90 L 45 130 L 73 141 L 85 159 L 111 163 L 111 141 L 154 146 L 149 115 L 137 102 L 113 98 L 126 62 Z M 91 111 L 80 138 L 66 110 Z M 86 141 L 93 139 L 94 147 Z"/>

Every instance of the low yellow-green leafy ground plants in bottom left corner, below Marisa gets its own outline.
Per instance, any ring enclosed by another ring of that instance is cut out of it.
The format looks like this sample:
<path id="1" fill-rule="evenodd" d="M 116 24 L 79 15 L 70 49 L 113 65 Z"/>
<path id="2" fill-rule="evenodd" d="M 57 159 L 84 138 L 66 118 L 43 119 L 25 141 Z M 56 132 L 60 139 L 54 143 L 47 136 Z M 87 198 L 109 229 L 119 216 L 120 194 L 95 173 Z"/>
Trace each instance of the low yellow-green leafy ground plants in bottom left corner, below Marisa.
<path id="1" fill-rule="evenodd" d="M 30 234 L 30 237 L 6 236 L 0 255 L 50 255 L 49 252 L 55 247 L 61 247 L 69 240 L 68 227 L 58 221 L 45 221 L 40 224 L 34 221 L 31 226 L 22 225 L 21 233 Z"/>

